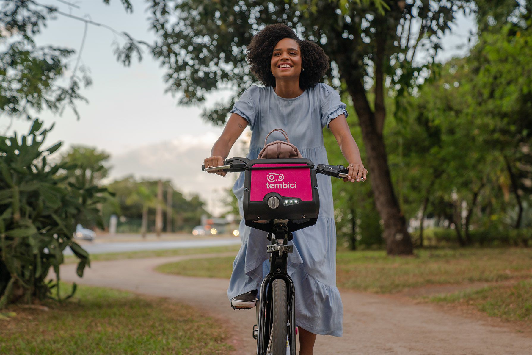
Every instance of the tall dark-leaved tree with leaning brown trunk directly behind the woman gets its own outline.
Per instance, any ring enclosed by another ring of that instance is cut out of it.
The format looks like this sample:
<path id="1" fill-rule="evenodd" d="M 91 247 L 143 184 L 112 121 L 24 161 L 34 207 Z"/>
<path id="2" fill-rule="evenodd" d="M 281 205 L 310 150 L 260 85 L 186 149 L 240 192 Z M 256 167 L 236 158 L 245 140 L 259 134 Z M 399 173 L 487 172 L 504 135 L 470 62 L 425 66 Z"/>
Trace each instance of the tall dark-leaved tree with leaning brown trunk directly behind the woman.
<path id="1" fill-rule="evenodd" d="M 158 37 L 154 55 L 167 68 L 168 90 L 184 92 L 181 103 L 202 102 L 209 90 L 222 85 L 237 89 L 229 102 L 205 112 L 207 119 L 222 124 L 235 98 L 253 82 L 244 59 L 245 46 L 256 31 L 268 23 L 284 22 L 302 37 L 319 42 L 332 59 L 330 82 L 339 88 L 345 85 L 358 115 L 387 252 L 410 254 L 411 238 L 395 197 L 383 139 L 384 97 L 389 90 L 401 95 L 422 82 L 440 37 L 468 4 L 154 0 L 151 21 Z M 421 47 L 429 56 L 426 64 L 415 61 Z"/>

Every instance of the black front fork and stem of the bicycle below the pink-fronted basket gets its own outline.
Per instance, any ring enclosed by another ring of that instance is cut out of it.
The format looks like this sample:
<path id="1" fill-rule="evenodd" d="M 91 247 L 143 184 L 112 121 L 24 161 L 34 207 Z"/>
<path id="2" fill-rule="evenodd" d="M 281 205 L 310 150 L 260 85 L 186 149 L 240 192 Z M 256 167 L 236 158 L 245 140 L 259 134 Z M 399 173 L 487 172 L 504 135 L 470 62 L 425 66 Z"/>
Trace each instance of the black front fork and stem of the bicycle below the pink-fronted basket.
<path id="1" fill-rule="evenodd" d="M 288 254 L 292 253 L 292 245 L 288 245 L 288 241 L 292 240 L 292 233 L 286 232 L 286 225 L 279 224 L 276 227 L 278 227 L 278 231 L 274 235 L 272 233 L 268 235 L 268 239 L 272 242 L 272 244 L 268 245 L 268 252 L 271 253 L 270 273 L 264 277 L 261 284 L 259 319 L 257 319 L 259 327 L 257 334 L 257 354 L 267 354 L 269 339 L 265 339 L 265 335 L 270 334 L 271 329 L 269 327 L 272 323 L 271 285 L 274 280 L 282 279 L 286 283 L 288 296 L 288 344 L 290 346 L 290 354 L 295 355 L 295 288 L 292 278 L 287 274 Z"/>

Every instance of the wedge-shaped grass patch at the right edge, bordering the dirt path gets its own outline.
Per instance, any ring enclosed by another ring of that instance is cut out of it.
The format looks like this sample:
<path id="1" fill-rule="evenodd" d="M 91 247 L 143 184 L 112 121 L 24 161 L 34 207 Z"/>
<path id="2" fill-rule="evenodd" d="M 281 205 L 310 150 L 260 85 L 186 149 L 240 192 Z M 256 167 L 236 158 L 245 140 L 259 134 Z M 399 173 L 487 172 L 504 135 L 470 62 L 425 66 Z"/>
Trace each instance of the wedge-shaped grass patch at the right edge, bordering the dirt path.
<path id="1" fill-rule="evenodd" d="M 520 320 L 532 325 L 532 280 L 513 286 L 488 286 L 429 298 L 431 302 L 461 303 L 474 306 L 491 317 Z"/>

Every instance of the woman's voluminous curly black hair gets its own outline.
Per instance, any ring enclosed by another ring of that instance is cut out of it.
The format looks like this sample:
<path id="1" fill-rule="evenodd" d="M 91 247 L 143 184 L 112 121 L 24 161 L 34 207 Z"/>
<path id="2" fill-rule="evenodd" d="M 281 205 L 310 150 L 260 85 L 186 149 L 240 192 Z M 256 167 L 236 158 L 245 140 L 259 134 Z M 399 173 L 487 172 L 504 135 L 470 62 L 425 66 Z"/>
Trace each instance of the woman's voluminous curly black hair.
<path id="1" fill-rule="evenodd" d="M 275 77 L 270 71 L 271 55 L 275 45 L 284 38 L 295 40 L 301 49 L 300 88 L 305 90 L 318 84 L 329 69 L 329 57 L 323 49 L 310 40 L 302 40 L 284 23 L 269 24 L 253 36 L 247 46 L 246 60 L 251 71 L 264 86 L 275 87 Z"/>

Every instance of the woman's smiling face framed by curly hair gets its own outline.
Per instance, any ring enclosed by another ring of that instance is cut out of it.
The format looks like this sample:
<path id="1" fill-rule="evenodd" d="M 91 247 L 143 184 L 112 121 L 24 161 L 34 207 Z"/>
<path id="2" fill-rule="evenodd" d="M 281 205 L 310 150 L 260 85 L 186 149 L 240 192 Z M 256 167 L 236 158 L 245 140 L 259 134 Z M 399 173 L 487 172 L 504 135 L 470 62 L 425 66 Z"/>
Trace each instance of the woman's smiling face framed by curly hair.
<path id="1" fill-rule="evenodd" d="M 298 78 L 301 63 L 301 49 L 295 40 L 284 38 L 273 47 L 270 67 L 276 79 Z"/>

